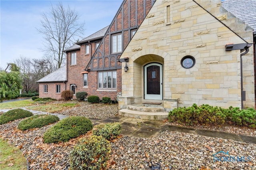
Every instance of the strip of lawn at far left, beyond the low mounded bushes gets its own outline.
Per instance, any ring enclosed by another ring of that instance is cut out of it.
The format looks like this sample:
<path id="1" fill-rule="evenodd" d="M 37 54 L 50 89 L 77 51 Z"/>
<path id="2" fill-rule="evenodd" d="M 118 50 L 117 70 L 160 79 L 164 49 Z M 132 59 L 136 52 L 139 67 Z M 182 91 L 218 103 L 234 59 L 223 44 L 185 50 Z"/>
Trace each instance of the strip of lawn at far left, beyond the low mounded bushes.
<path id="1" fill-rule="evenodd" d="M 22 101 L 13 101 L 13 102 L 5 102 L 0 103 L 0 109 L 14 109 L 19 107 L 32 106 L 36 102 L 32 99 L 22 100 Z"/>

